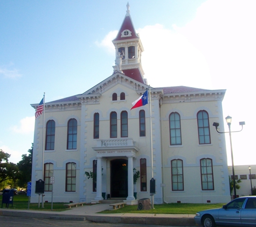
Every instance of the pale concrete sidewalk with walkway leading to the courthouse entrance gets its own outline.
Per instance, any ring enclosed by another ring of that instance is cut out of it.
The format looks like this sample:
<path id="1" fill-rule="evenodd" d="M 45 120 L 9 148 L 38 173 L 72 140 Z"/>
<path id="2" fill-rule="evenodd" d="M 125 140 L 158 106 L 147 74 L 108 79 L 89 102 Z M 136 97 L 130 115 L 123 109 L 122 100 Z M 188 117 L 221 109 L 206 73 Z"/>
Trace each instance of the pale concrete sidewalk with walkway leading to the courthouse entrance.
<path id="1" fill-rule="evenodd" d="M 172 225 L 172 226 L 196 226 L 193 217 L 195 215 L 163 215 L 163 214 L 97 214 L 103 210 L 111 210 L 108 203 L 84 205 L 69 210 L 38 211 L 38 210 L 15 210 L 0 208 L 0 216 L 62 219 L 69 221 L 91 221 L 123 224 L 146 224 L 146 225 Z"/>

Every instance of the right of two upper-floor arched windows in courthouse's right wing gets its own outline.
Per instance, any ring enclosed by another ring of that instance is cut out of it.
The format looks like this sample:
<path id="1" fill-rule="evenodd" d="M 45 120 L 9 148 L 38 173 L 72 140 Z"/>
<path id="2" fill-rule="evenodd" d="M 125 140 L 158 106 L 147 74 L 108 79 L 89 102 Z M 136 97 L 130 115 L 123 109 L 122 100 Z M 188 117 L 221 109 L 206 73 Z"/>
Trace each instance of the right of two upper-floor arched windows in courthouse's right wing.
<path id="1" fill-rule="evenodd" d="M 201 110 L 197 113 L 197 125 L 198 125 L 198 137 L 199 144 L 210 144 L 210 127 L 209 117 L 205 110 Z"/>

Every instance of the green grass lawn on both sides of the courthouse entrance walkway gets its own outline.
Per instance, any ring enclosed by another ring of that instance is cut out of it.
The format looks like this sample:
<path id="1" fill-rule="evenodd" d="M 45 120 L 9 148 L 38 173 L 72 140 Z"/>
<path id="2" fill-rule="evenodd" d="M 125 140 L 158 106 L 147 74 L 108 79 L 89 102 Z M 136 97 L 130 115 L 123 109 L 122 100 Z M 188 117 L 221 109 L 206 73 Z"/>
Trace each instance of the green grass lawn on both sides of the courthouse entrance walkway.
<path id="1" fill-rule="evenodd" d="M 2 195 L 0 195 L 1 207 L 2 207 Z M 64 211 L 68 208 L 64 207 L 65 203 L 53 203 L 53 211 Z M 138 213 L 138 214 L 196 214 L 200 210 L 220 208 L 224 203 L 217 204 L 201 204 L 201 203 L 169 203 L 169 204 L 154 204 L 153 210 L 137 210 L 137 205 L 126 205 L 124 208 L 117 210 L 105 210 L 101 211 L 100 214 L 115 214 L 115 213 Z M 92 204 L 88 204 L 92 205 Z M 20 209 L 20 210 L 51 210 L 52 203 L 44 203 L 44 208 L 38 208 L 38 203 L 30 203 L 29 197 L 26 195 L 15 195 L 13 198 L 13 207 L 9 204 L 9 209 Z M 5 208 L 5 204 L 3 204 Z"/>

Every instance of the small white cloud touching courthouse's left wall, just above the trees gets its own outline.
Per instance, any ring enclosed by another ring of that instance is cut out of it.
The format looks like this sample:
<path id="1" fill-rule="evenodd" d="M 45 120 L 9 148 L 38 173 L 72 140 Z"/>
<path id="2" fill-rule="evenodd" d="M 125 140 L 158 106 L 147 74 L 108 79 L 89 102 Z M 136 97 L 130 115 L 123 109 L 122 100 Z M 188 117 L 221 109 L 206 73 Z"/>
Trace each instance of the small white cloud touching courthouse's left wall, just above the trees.
<path id="1" fill-rule="evenodd" d="M 29 134 L 34 131 L 34 116 L 25 117 L 20 120 L 19 125 L 11 127 L 11 130 L 15 133 Z"/>

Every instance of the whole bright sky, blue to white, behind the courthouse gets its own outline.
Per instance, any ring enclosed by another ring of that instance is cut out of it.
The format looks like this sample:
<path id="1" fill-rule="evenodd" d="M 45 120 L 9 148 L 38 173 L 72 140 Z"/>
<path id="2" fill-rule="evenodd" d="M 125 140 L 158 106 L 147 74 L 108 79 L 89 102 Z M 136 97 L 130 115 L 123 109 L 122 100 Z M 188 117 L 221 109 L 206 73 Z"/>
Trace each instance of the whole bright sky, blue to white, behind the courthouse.
<path id="1" fill-rule="evenodd" d="M 112 40 L 127 0 L 0 0 L 0 149 L 22 160 L 33 143 L 34 109 L 84 93 L 115 65 Z M 130 0 L 151 87 L 226 89 L 234 165 L 256 165 L 255 0 Z M 211 126 L 211 133 L 217 133 Z M 229 135 L 227 161 L 231 165 Z"/>

